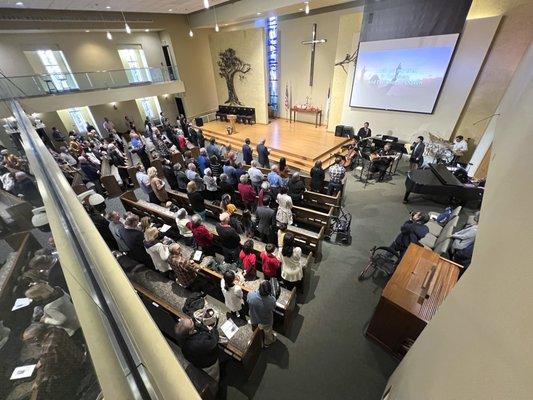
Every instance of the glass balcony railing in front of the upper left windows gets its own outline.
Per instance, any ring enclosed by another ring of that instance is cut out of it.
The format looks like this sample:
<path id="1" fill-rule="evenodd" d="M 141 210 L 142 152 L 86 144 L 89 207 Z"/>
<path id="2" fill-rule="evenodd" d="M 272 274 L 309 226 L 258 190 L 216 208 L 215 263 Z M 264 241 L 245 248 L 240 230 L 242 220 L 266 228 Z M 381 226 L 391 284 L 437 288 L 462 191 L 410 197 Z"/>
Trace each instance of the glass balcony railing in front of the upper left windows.
<path id="1" fill-rule="evenodd" d="M 179 80 L 176 66 L 0 77 L 0 100 Z"/>

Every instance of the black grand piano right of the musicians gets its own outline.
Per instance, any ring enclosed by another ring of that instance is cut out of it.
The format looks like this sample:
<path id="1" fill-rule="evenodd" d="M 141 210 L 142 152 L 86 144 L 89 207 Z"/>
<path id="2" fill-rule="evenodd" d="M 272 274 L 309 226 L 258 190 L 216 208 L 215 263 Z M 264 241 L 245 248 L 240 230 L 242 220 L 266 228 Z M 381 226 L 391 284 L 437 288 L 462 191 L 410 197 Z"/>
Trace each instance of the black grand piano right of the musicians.
<path id="1" fill-rule="evenodd" d="M 404 203 L 411 193 L 433 196 L 435 201 L 445 204 L 471 205 L 479 208 L 483 188 L 463 184 L 444 164 L 429 164 L 428 169 L 417 169 L 407 173 Z"/>

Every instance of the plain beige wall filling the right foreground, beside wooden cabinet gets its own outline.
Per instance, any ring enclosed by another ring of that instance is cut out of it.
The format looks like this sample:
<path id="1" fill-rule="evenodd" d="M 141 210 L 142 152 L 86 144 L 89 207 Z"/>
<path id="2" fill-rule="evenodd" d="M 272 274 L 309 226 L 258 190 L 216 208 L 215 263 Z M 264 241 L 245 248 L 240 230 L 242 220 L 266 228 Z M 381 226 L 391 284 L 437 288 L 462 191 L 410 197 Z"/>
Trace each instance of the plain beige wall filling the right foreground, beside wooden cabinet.
<path id="1" fill-rule="evenodd" d="M 472 265 L 391 376 L 390 400 L 532 398 L 533 47 L 501 104 Z"/>

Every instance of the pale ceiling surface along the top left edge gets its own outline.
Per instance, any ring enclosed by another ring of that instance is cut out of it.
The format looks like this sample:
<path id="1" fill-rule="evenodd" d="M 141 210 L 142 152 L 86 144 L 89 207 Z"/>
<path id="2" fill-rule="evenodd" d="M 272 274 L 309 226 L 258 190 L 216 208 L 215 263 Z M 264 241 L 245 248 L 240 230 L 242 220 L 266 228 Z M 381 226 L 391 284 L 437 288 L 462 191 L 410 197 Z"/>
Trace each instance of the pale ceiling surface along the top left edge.
<path id="1" fill-rule="evenodd" d="M 227 1 L 209 0 L 209 4 Z M 0 0 L 0 8 L 188 14 L 204 6 L 203 0 Z"/>

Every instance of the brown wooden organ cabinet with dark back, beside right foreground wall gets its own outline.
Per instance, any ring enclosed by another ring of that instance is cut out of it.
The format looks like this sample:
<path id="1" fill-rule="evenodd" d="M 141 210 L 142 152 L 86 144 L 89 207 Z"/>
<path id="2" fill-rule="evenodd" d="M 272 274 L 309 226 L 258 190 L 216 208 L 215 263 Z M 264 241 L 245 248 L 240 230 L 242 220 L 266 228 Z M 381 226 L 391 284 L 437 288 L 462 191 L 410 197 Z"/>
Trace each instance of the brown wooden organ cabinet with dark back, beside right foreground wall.
<path id="1" fill-rule="evenodd" d="M 411 244 L 381 294 L 366 336 L 401 359 L 455 286 L 461 269 Z"/>

